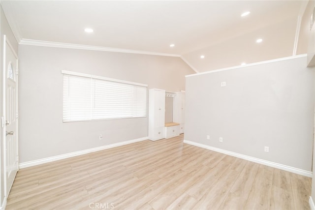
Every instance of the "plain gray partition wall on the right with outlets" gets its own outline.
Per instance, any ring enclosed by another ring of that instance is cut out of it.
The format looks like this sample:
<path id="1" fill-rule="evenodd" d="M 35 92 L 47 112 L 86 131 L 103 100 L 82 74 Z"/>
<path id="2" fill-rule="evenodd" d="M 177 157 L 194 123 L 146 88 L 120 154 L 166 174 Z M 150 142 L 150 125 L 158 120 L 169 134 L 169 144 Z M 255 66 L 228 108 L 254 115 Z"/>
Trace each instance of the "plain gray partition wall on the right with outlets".
<path id="1" fill-rule="evenodd" d="M 187 77 L 185 140 L 311 171 L 314 70 L 302 57 Z"/>

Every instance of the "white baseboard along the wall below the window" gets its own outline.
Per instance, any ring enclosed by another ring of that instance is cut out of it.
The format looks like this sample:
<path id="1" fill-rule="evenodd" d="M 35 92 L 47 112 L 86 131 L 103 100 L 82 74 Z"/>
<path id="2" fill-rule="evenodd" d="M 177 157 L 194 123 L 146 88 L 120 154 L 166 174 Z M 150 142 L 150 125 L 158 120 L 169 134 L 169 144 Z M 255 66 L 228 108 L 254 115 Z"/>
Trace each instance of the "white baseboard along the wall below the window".
<path id="1" fill-rule="evenodd" d="M 144 140 L 148 140 L 148 137 L 133 139 L 133 140 L 125 141 L 125 142 L 119 142 L 119 143 L 115 143 L 115 144 L 111 144 L 111 145 L 105 145 L 105 146 L 92 148 L 92 149 L 88 149 L 88 150 L 70 152 L 70 153 L 61 154 L 61 155 L 57 155 L 57 156 L 53 156 L 53 157 L 42 158 L 42 159 L 38 159 L 38 160 L 32 160 L 32 161 L 20 163 L 19 166 L 20 166 L 20 169 L 27 168 L 27 167 L 31 167 L 31 166 L 40 165 L 43 163 L 53 162 L 56 160 L 62 160 L 62 159 L 68 158 L 68 157 L 74 157 L 74 156 L 87 154 L 87 153 L 91 153 L 91 152 L 95 152 L 95 151 L 99 151 L 99 150 L 106 150 L 106 149 L 110 149 L 110 148 L 115 148 L 115 147 L 119 147 L 119 146 L 123 146 L 123 145 L 132 144 L 135 142 L 141 142 Z"/>

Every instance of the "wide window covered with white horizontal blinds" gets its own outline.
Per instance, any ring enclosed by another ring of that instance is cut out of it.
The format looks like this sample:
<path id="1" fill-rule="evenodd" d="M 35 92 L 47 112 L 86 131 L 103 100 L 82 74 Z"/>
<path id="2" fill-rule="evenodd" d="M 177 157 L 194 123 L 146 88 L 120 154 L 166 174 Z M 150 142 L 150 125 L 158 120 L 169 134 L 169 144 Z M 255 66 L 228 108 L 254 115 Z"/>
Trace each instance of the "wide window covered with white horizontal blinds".
<path id="1" fill-rule="evenodd" d="M 147 85 L 62 71 L 63 122 L 147 116 Z"/>

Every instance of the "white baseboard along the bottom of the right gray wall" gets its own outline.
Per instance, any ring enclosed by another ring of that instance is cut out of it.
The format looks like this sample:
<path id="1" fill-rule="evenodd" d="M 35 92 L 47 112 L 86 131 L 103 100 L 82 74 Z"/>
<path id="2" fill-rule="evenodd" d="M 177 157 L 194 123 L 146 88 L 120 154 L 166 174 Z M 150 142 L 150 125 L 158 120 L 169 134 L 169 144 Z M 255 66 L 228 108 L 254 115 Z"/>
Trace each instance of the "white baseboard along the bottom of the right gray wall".
<path id="1" fill-rule="evenodd" d="M 303 170 L 303 169 L 298 169 L 298 168 L 294 168 L 294 167 L 291 167 L 291 166 L 286 166 L 286 165 L 282 165 L 282 164 L 279 164 L 279 163 L 271 162 L 271 161 L 268 161 L 268 160 L 263 160 L 263 159 L 251 157 L 251 156 L 240 154 L 240 153 L 236 153 L 236 152 L 233 152 L 233 151 L 222 150 L 222 149 L 219 149 L 219 148 L 215 148 L 215 147 L 211 147 L 211 146 L 208 146 L 208 145 L 203 145 L 203 144 L 199 144 L 199 143 L 191 142 L 191 141 L 187 141 L 187 140 L 184 140 L 184 143 L 189 144 L 189 145 L 193 145 L 193 146 L 197 146 L 197 147 L 200 147 L 200 148 L 204 148 L 204 149 L 207 149 L 207 150 L 217 151 L 217 152 L 220 152 L 220 153 L 223 153 L 223 154 L 227 154 L 227 155 L 231 155 L 231 156 L 234 156 L 234 157 L 239 157 L 241 159 L 249 160 L 249 161 L 252 161 L 252 162 L 255 162 L 255 163 L 259 163 L 259 164 L 266 165 L 266 166 L 271 166 L 271 167 L 274 167 L 274 168 L 277 168 L 277 169 L 282 169 L 284 171 L 288 171 L 288 172 L 292 172 L 292 173 L 295 173 L 295 174 L 299 174 L 299 175 L 303 175 L 303 176 L 312 178 L 312 172 L 311 171 L 306 171 L 306 170 Z"/>

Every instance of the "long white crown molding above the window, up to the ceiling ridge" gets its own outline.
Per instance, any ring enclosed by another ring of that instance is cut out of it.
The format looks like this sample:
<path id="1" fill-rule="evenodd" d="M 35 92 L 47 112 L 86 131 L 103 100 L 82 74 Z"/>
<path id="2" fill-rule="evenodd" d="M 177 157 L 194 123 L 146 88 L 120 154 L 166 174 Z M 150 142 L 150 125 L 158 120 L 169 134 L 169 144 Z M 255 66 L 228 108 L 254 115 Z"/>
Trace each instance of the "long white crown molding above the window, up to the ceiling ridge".
<path id="1" fill-rule="evenodd" d="M 129 50 L 129 49 L 111 48 L 111 47 L 98 47 L 98 46 L 90 46 L 90 45 L 82 45 L 82 44 L 69 44 L 69 43 L 62 43 L 62 42 L 41 41 L 41 40 L 33 40 L 33 39 L 22 39 L 19 42 L 19 44 L 42 46 L 42 47 L 79 49 L 79 50 L 106 51 L 106 52 L 115 52 L 115 53 L 132 53 L 132 54 L 155 55 L 155 56 L 181 57 L 180 55 L 176 55 L 176 54 L 157 53 L 157 52 L 140 51 L 140 50 Z"/>

